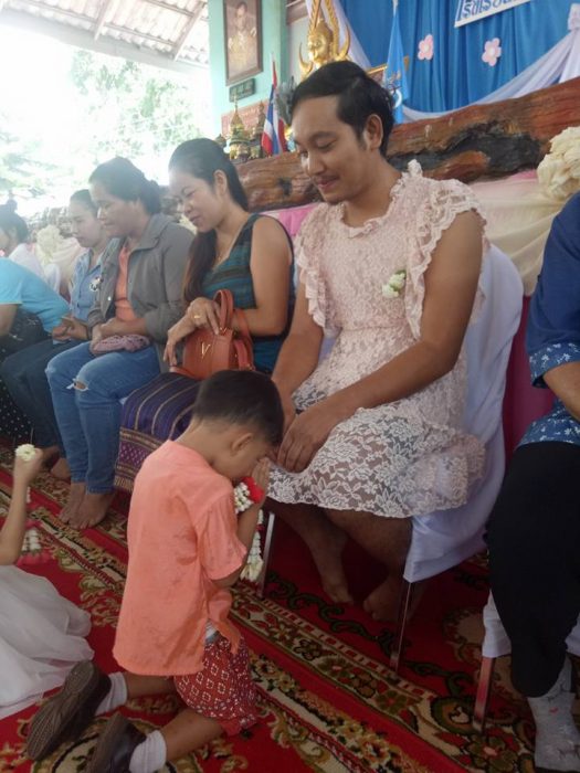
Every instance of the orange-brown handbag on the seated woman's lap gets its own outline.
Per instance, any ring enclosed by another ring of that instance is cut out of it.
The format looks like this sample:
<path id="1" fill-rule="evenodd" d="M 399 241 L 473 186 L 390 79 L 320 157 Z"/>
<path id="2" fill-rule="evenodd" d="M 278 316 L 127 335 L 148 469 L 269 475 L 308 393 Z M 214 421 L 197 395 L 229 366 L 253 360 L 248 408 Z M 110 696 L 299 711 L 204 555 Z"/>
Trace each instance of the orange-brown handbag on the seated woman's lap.
<path id="1" fill-rule="evenodd" d="M 201 381 L 219 370 L 254 370 L 252 337 L 244 313 L 234 308 L 230 290 L 218 290 L 213 300 L 220 307 L 219 332 L 199 328 L 190 333 L 183 345 L 181 364 L 172 366 L 171 373 Z M 232 329 L 234 315 L 240 330 Z"/>

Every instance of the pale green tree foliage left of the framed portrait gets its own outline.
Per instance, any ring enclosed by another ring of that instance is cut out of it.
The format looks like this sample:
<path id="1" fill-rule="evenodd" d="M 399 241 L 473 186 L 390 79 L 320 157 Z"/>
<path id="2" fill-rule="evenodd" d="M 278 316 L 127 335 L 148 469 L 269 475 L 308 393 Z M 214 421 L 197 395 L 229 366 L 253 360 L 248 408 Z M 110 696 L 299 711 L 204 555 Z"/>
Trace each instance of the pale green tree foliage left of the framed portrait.
<path id="1" fill-rule="evenodd" d="M 77 51 L 71 77 L 85 103 L 95 162 L 166 155 L 199 136 L 192 91 L 160 71 Z"/>

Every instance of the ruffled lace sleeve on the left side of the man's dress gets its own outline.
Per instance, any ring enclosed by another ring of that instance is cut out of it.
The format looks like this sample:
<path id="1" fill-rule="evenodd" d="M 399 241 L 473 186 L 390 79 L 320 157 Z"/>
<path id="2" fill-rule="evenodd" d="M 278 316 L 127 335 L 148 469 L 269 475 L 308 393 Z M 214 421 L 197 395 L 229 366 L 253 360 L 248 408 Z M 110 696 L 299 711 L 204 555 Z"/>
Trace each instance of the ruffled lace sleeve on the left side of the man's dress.
<path id="1" fill-rule="evenodd" d="M 295 242 L 296 265 L 299 280 L 304 284 L 308 311 L 314 321 L 323 328 L 326 336 L 336 335 L 330 320 L 330 309 L 320 268 L 320 255 L 327 229 L 325 226 L 327 207 L 317 207 L 304 220 Z"/>

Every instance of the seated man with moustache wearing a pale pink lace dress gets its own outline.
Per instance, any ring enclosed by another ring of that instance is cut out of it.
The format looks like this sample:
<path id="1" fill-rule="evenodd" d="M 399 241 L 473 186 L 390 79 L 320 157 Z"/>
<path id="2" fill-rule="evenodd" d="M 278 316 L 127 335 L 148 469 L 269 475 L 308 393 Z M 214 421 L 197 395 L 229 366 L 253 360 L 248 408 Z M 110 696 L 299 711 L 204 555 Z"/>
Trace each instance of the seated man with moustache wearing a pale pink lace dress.
<path id="1" fill-rule="evenodd" d="M 387 566 L 365 602 L 380 620 L 397 610 L 411 516 L 463 505 L 484 462 L 463 430 L 477 202 L 416 162 L 393 169 L 392 125 L 390 95 L 351 62 L 320 67 L 294 93 L 296 148 L 326 203 L 296 243 L 296 310 L 273 374 L 286 432 L 270 488 L 334 601 L 352 601 L 347 536 Z M 319 363 L 325 331 L 336 343 Z"/>

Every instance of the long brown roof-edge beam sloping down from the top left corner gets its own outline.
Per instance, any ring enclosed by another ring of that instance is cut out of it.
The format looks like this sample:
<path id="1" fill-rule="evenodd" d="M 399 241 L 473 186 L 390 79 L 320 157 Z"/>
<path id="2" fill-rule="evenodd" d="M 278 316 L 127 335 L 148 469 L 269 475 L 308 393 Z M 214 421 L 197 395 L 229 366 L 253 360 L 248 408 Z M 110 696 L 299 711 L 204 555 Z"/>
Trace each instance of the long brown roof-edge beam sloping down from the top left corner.
<path id="1" fill-rule="evenodd" d="M 101 35 L 98 40 L 93 38 L 93 32 L 81 30 L 62 22 L 42 19 L 32 13 L 23 11 L 14 11 L 6 8 L 2 12 L 2 23 L 10 24 L 18 29 L 29 30 L 30 32 L 39 32 L 40 34 L 54 38 L 61 43 L 75 45 L 78 49 L 87 51 L 96 51 L 97 53 L 108 54 L 109 56 L 122 56 L 123 59 L 133 60 L 134 62 L 143 62 L 144 64 L 169 70 L 173 73 L 182 75 L 194 75 L 196 73 L 207 73 L 208 65 L 189 60 L 180 60 L 176 62 L 168 54 L 156 52 L 152 49 L 143 49 L 130 43 L 114 40 L 107 35 Z M 94 19 L 91 20 L 94 23 Z"/>

